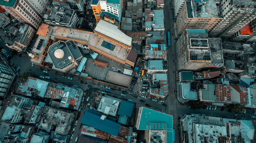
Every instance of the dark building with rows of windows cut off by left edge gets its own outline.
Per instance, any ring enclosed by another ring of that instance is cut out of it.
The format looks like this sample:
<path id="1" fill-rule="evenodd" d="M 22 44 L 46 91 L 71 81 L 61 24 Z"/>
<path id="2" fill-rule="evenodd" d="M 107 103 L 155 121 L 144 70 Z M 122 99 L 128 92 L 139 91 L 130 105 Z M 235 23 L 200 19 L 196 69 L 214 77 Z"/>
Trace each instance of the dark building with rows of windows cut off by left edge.
<path id="1" fill-rule="evenodd" d="M 15 78 L 13 69 L 4 56 L 0 55 L 0 97 L 6 97 Z"/>

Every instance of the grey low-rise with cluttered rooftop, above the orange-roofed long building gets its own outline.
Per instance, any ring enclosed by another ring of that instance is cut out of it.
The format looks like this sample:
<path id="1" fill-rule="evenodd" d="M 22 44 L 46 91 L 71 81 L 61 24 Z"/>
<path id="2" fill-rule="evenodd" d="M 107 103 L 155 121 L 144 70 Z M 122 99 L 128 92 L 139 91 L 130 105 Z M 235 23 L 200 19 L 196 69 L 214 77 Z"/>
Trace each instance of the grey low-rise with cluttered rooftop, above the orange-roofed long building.
<path id="1" fill-rule="evenodd" d="M 44 22 L 50 25 L 75 28 L 77 21 L 75 10 L 69 10 L 59 5 L 49 7 L 44 15 Z"/>

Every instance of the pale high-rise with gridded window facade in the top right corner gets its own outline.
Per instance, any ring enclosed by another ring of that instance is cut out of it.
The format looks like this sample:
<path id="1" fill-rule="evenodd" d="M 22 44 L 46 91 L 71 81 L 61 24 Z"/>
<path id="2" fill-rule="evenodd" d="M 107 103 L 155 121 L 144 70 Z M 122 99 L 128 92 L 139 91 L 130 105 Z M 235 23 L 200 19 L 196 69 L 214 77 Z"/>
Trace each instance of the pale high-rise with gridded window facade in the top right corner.
<path id="1" fill-rule="evenodd" d="M 221 0 L 223 19 L 209 33 L 211 36 L 231 37 L 256 18 L 256 2 L 252 0 Z"/>

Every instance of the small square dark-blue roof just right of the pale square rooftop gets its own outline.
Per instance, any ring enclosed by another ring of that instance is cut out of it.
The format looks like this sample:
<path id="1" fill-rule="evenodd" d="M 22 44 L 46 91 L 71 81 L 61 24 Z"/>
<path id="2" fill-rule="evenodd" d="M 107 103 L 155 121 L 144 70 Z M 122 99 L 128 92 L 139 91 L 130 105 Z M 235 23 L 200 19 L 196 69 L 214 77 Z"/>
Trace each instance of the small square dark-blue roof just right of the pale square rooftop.
<path id="1" fill-rule="evenodd" d="M 133 106 L 133 102 L 122 100 L 117 115 L 125 115 L 127 117 L 131 117 L 133 112 Z"/>

